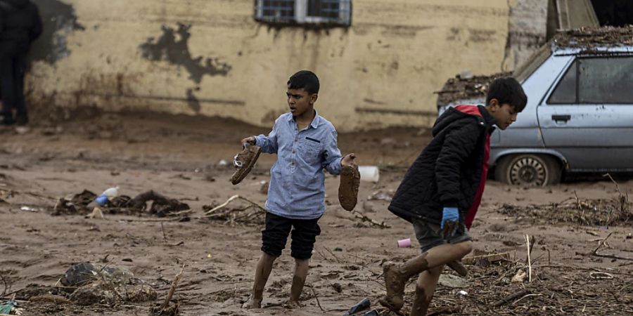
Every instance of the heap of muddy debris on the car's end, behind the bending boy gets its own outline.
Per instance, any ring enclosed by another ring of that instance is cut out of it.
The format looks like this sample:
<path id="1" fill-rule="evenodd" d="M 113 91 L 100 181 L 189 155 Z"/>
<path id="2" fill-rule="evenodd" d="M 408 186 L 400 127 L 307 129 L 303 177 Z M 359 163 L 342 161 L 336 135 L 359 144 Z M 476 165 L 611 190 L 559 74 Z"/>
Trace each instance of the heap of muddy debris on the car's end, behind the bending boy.
<path id="1" fill-rule="evenodd" d="M 488 86 L 494 79 L 501 77 L 511 77 L 512 72 L 499 72 L 488 76 L 456 75 L 448 79 L 442 90 L 435 93 L 437 96 L 437 106 L 441 107 L 457 100 L 468 100 L 474 98 L 485 98 Z"/>

